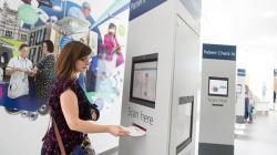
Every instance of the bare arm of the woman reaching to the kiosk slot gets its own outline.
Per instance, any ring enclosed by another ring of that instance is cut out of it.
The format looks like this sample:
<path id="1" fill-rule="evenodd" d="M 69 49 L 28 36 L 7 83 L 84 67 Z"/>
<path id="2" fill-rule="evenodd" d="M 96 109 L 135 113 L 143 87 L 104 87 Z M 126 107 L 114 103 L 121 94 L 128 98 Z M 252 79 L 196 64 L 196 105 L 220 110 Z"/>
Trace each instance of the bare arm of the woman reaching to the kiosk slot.
<path id="1" fill-rule="evenodd" d="M 117 125 L 98 125 L 79 117 L 78 97 L 72 90 L 64 91 L 61 96 L 61 107 L 65 121 L 72 131 L 82 133 L 111 133 L 114 136 L 125 136 L 129 133 Z"/>

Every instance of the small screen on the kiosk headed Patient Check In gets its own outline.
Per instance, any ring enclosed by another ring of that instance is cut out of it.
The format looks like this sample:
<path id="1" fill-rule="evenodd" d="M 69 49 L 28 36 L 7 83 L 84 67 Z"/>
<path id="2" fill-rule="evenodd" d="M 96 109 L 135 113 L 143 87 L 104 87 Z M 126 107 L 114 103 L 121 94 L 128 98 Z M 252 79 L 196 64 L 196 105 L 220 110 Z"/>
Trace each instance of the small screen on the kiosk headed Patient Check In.
<path id="1" fill-rule="evenodd" d="M 228 79 L 208 78 L 208 95 L 228 96 Z"/>

